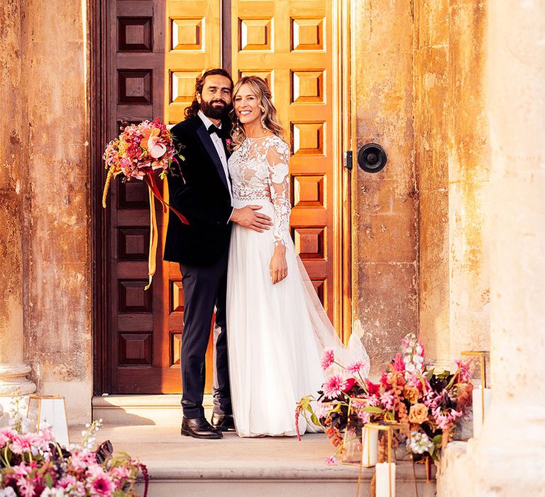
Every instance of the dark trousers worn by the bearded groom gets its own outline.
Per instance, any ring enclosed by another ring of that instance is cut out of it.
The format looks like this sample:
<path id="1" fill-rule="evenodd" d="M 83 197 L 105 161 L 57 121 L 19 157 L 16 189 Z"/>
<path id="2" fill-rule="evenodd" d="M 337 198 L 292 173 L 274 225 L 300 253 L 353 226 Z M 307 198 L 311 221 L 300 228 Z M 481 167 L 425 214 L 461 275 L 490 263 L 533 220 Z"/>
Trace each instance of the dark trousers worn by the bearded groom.
<path id="1" fill-rule="evenodd" d="M 225 253 L 214 266 L 197 267 L 180 263 L 184 290 L 180 366 L 185 417 L 204 417 L 205 358 L 214 307 L 214 412 L 233 413 L 227 356 L 227 256 Z"/>

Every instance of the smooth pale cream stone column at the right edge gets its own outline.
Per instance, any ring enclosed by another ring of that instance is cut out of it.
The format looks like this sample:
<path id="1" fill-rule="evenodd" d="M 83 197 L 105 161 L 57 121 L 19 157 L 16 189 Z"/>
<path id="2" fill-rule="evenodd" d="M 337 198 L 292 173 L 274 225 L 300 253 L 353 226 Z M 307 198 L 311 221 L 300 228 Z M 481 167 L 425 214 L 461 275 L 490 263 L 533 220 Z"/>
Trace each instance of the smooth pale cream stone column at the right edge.
<path id="1" fill-rule="evenodd" d="M 545 488 L 545 4 L 488 2 L 492 405 L 439 496 Z M 456 453 L 457 452 L 457 453 Z"/>

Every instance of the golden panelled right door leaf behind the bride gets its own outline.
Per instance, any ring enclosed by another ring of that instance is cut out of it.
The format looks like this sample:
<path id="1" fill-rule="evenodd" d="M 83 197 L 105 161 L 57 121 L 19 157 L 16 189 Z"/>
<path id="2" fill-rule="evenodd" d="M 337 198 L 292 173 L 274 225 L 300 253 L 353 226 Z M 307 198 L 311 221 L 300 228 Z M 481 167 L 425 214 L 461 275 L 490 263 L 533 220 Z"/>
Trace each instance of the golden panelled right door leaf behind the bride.
<path id="1" fill-rule="evenodd" d="M 334 125 L 331 0 L 232 0 L 233 78 L 269 83 L 291 143 L 292 238 L 329 318 L 336 316 L 334 219 L 340 161 Z M 338 111 L 339 109 L 337 109 Z"/>

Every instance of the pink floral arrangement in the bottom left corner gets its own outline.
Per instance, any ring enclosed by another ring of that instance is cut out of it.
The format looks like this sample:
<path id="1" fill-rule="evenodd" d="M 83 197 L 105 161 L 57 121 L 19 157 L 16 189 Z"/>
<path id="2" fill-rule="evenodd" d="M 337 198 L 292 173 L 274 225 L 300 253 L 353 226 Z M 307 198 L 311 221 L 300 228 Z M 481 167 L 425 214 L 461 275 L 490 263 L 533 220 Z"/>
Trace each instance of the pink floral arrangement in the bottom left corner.
<path id="1" fill-rule="evenodd" d="M 51 427 L 26 432 L 28 420 L 17 410 L 10 427 L 0 429 L 0 497 L 138 496 L 136 484 L 145 481 L 145 466 L 128 454 L 113 455 L 104 442 L 93 450 L 101 425 L 95 421 L 82 432 L 79 445 L 61 447 Z"/>

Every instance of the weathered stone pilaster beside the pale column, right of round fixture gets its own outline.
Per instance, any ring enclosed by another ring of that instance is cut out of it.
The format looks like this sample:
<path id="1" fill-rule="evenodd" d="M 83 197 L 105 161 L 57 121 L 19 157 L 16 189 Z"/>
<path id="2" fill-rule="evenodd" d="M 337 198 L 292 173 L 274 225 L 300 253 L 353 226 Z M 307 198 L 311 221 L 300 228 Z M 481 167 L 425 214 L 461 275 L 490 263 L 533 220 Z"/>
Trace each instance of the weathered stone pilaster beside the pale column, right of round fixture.
<path id="1" fill-rule="evenodd" d="M 414 4 L 419 315 L 427 356 L 489 349 L 486 2 Z"/>

